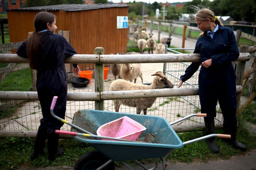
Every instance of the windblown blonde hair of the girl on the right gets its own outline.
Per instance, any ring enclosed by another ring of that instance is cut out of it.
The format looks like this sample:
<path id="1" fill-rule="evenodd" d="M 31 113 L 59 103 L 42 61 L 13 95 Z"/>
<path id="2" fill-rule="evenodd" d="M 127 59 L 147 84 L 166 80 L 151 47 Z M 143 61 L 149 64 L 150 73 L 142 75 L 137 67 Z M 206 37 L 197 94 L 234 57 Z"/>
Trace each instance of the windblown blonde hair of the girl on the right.
<path id="1" fill-rule="evenodd" d="M 206 21 L 207 18 L 209 18 L 211 22 L 214 22 L 220 26 L 223 26 L 222 22 L 218 18 L 216 18 L 214 21 L 215 15 L 209 8 L 205 8 L 203 6 L 193 6 L 193 5 L 190 5 L 189 7 L 194 9 L 196 13 L 195 15 L 196 20 Z M 204 32 L 200 34 L 200 37 L 202 37 L 203 35 L 204 35 Z"/>

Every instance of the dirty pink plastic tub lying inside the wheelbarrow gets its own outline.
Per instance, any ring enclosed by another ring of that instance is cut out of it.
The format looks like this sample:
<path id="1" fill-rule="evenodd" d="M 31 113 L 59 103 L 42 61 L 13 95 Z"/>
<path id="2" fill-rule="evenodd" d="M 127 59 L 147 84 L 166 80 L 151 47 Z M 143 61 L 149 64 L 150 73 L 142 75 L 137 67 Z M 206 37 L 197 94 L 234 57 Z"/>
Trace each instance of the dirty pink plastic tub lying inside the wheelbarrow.
<path id="1" fill-rule="evenodd" d="M 116 137 L 128 140 L 137 140 L 142 131 L 146 130 L 140 123 L 124 116 L 112 122 L 101 125 L 97 130 L 97 135 Z M 111 140 L 103 139 L 102 140 Z"/>

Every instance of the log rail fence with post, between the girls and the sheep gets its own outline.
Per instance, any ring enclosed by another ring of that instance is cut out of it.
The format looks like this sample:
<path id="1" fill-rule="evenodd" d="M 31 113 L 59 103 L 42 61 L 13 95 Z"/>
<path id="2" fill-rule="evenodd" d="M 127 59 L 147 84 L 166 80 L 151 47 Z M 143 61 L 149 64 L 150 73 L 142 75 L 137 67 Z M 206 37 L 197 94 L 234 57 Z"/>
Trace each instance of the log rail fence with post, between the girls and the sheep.
<path id="1" fill-rule="evenodd" d="M 249 53 L 240 53 L 236 60 L 236 76 L 238 96 L 242 92 L 242 83 L 245 61 L 250 59 Z M 1 63 L 28 63 L 28 59 L 16 54 L 0 54 Z M 199 54 L 145 54 L 145 55 L 104 55 L 104 48 L 95 48 L 95 55 L 73 55 L 65 59 L 65 63 L 93 63 L 95 64 L 95 92 L 68 92 L 68 99 L 71 101 L 95 101 L 95 109 L 104 109 L 104 100 L 150 98 L 150 97 L 172 97 L 198 95 L 198 88 L 179 89 L 152 89 L 152 90 L 131 90 L 131 91 L 104 91 L 103 67 L 106 63 L 177 63 L 177 62 L 200 62 Z M 0 100 L 38 100 L 37 92 L 0 92 Z M 184 129 L 183 129 L 184 130 Z M 34 131 L 0 131 L 0 137 L 8 135 L 35 137 Z"/>

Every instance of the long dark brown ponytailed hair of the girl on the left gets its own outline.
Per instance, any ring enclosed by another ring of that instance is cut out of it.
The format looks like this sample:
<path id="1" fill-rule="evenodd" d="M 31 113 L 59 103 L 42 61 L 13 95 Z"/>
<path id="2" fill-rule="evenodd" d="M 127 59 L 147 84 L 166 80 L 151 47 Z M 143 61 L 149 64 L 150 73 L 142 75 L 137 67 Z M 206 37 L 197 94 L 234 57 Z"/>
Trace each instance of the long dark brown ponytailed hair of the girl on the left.
<path id="1" fill-rule="evenodd" d="M 47 28 L 47 23 L 52 24 L 55 18 L 55 15 L 42 11 L 39 12 L 34 19 L 36 30 L 28 37 L 27 43 L 28 59 L 32 69 L 37 70 L 40 61 L 43 59 L 42 35 L 40 35 L 39 32 Z"/>

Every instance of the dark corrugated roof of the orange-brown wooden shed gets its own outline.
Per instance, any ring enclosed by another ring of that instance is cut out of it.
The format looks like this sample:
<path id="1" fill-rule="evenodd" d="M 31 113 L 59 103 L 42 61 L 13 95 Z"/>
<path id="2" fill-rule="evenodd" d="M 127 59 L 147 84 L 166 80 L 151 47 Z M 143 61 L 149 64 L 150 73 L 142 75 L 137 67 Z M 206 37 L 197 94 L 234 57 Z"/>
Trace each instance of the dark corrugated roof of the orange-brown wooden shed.
<path id="1" fill-rule="evenodd" d="M 127 7 L 127 4 L 62 4 L 9 9 L 8 11 L 85 11 L 100 8 Z"/>

